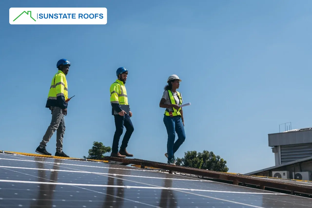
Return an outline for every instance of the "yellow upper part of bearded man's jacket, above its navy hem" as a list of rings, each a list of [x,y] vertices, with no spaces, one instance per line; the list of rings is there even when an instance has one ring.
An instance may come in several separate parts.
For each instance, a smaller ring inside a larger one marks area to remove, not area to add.
[[[110,86],[110,103],[119,103],[119,105],[129,105],[128,96],[124,82],[116,80]]]

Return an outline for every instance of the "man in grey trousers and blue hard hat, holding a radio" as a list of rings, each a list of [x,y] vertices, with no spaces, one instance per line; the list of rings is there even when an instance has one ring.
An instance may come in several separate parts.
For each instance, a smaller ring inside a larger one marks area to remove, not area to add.
[[[69,157],[63,152],[63,138],[65,133],[64,116],[67,115],[67,105],[70,100],[68,99],[68,87],[66,81],[66,75],[70,66],[71,62],[66,59],[60,59],[56,64],[58,72],[52,78],[46,101],[46,108],[51,110],[52,120],[40,142],[40,145],[36,149],[36,152],[42,155],[51,155],[51,153],[46,151],[46,143],[50,141],[53,133],[56,131],[55,156]]]

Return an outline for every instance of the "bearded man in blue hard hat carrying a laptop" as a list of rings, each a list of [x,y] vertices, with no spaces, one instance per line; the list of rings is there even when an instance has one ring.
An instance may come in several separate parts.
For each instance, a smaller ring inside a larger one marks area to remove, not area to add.
[[[132,125],[130,117],[132,116],[132,112],[129,109],[129,114],[125,112],[122,107],[128,105],[128,96],[125,87],[125,83],[128,76],[128,70],[124,67],[119,67],[116,71],[117,80],[110,86],[110,103],[112,105],[112,115],[115,118],[115,126],[116,131],[113,139],[112,153],[110,156],[112,157],[133,157],[132,154],[129,154],[126,150],[128,146],[129,139],[134,131],[134,127]],[[126,108],[125,107],[125,108]],[[119,139],[122,135],[122,132],[126,127],[126,132],[124,134],[124,138],[122,140],[120,150],[118,151]]]

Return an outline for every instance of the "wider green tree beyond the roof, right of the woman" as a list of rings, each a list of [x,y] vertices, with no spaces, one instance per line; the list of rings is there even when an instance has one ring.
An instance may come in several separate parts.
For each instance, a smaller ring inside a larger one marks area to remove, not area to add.
[[[187,151],[184,152],[183,158],[177,158],[176,164],[178,166],[193,167],[199,169],[207,169],[210,171],[227,172],[229,169],[225,161],[220,156],[216,156],[212,151],[198,152]]]

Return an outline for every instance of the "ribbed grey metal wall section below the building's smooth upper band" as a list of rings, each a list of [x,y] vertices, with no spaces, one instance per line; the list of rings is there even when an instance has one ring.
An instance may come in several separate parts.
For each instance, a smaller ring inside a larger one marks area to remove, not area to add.
[[[281,163],[312,156],[312,143],[280,146]]]

